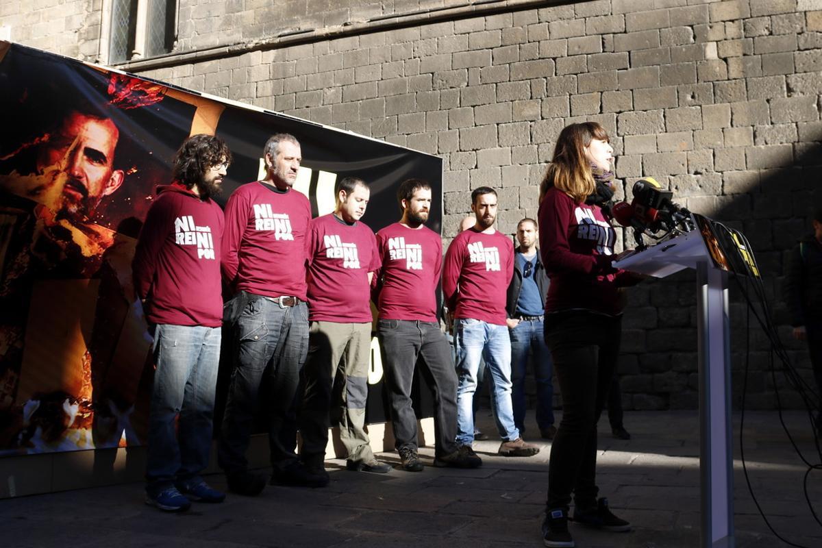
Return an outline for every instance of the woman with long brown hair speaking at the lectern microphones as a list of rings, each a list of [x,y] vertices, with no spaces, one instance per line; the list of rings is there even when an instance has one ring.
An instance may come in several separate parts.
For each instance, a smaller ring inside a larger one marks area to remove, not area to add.
[[[539,244],[551,278],[545,302],[545,342],[562,394],[562,421],[548,467],[545,546],[574,545],[568,521],[603,531],[630,523],[598,498],[597,421],[617,366],[624,306],[620,288],[637,283],[615,269],[613,148],[595,122],[567,126],[556,140],[539,188]],[[574,513],[569,516],[571,495]]]

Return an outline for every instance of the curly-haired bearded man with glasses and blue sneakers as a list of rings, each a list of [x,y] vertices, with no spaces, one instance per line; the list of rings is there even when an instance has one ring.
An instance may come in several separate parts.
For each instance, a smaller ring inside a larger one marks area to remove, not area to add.
[[[203,481],[211,450],[223,298],[219,193],[231,152],[215,136],[189,137],[173,183],[145,216],[132,270],[154,336],[145,504],[169,512],[225,498]],[[179,417],[179,420],[178,420]]]

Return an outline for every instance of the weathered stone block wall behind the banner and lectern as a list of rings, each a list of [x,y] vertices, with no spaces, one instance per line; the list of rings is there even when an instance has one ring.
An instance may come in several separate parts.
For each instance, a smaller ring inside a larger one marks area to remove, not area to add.
[[[822,0],[270,3],[182,2],[178,57],[127,70],[441,156],[446,237],[481,185],[499,191],[499,227],[513,233],[536,214],[561,128],[596,120],[629,193],[653,176],[750,237],[775,317],[787,320],[783,259],[822,198]],[[192,58],[205,47],[218,49]],[[630,291],[627,408],[696,407],[693,280]],[[773,407],[769,346],[753,326],[747,351],[736,288],[732,298],[734,397],[750,357],[749,403]],[[810,380],[804,348],[781,333]],[[782,401],[797,404],[795,394]]]

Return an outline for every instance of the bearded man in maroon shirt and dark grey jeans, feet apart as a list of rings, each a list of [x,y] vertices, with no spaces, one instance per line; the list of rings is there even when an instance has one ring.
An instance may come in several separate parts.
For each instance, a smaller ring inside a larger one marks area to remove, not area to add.
[[[417,417],[411,406],[413,371],[423,357],[434,389],[434,466],[474,468],[483,461],[455,443],[457,376],[446,335],[436,320],[436,285],[442,270],[442,239],[425,227],[431,185],[408,179],[397,189],[403,218],[376,233],[382,267],[375,299],[377,334],[385,357],[395,447],[408,472],[422,472],[417,454]]]

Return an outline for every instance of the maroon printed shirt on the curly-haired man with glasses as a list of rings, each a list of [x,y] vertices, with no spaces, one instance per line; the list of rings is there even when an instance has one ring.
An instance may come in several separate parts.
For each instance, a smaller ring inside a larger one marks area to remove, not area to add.
[[[223,210],[181,185],[158,187],[137,241],[134,287],[152,324],[223,323]]]

